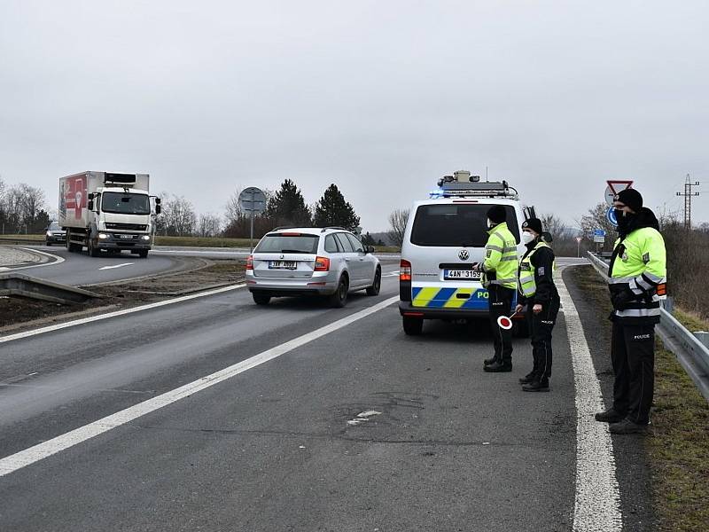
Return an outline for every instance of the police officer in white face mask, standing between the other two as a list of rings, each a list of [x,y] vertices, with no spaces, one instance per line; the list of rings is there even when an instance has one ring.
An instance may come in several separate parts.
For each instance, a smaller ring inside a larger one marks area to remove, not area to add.
[[[518,305],[526,306],[526,318],[532,338],[532,371],[519,379],[526,392],[548,392],[551,377],[551,332],[557,323],[561,301],[554,284],[554,252],[543,233],[541,220],[529,218],[522,223],[522,241],[526,253],[519,262]]]

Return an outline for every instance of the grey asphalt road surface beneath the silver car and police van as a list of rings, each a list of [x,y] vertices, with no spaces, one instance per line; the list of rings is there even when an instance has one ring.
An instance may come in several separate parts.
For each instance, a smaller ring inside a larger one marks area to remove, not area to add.
[[[519,389],[528,340],[516,341],[514,372],[484,373],[486,323],[426,322],[407,337],[395,304],[283,348],[396,296],[395,268],[378,297],[345,309],[257,307],[238,289],[0,343],[0,457],[283,351],[0,477],[2,528],[570,529],[563,315],[549,394]],[[364,412],[377,413],[356,421]]]

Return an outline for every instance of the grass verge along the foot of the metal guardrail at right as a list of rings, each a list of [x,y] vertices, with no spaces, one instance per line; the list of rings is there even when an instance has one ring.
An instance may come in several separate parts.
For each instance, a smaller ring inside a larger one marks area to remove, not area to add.
[[[610,305],[603,279],[591,267],[574,270],[579,288],[605,315]],[[655,351],[651,416],[651,433],[643,439],[643,447],[651,464],[657,529],[705,532],[709,523],[709,404],[660,340]]]

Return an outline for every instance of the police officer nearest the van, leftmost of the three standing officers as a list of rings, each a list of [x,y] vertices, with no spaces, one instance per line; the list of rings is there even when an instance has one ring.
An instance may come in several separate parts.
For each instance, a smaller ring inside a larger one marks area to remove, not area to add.
[[[487,288],[495,355],[485,360],[486,372],[512,371],[512,332],[497,325],[497,318],[509,315],[517,289],[517,240],[507,227],[507,211],[502,205],[487,210],[487,245],[485,260],[473,264],[482,274],[482,285]]]

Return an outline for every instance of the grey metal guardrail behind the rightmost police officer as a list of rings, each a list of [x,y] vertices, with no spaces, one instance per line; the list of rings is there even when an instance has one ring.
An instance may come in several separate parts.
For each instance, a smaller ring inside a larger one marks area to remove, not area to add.
[[[590,251],[588,261],[604,279],[608,279],[608,264]],[[666,309],[660,309],[658,334],[665,347],[674,353],[699,391],[709,401],[709,348]]]

